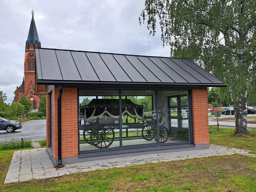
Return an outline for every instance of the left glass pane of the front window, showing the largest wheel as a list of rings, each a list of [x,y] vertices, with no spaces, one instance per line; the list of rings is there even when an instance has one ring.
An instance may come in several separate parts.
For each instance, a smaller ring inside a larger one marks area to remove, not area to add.
[[[79,91],[78,122],[80,151],[119,147],[118,91]]]

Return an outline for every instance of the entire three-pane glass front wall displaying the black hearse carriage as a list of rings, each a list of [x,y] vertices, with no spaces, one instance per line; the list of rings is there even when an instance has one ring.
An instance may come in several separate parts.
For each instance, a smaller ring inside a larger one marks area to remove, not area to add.
[[[190,141],[188,100],[188,91],[79,90],[79,153]]]

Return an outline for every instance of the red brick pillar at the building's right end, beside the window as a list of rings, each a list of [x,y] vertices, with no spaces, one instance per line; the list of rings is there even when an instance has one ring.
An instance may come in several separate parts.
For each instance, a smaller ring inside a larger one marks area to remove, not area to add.
[[[192,90],[194,144],[209,144],[207,89]]]

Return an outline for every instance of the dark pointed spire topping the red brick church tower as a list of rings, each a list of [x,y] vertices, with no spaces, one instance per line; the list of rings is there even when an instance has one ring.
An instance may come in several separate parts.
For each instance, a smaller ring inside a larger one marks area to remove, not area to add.
[[[31,19],[30,28],[29,28],[28,39],[26,41],[26,50],[35,49],[36,47],[39,47],[39,48],[41,47],[41,42],[38,37],[35,20],[34,20],[34,11],[32,10],[31,13],[32,13],[32,19]]]

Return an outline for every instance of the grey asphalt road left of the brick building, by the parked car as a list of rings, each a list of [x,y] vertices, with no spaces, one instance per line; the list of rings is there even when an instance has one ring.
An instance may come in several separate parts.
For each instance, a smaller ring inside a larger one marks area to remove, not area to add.
[[[13,133],[0,131],[0,143],[8,143],[10,140],[30,139],[39,141],[46,139],[46,119],[30,120],[22,123],[23,127]]]

